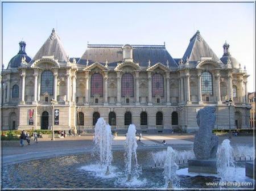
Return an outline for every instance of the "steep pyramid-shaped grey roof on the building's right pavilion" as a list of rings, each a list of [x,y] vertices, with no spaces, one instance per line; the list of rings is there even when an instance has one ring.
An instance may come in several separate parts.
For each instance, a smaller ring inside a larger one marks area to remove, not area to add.
[[[211,57],[212,60],[221,62],[217,55],[200,35],[200,32],[197,31],[195,35],[190,39],[188,48],[185,51],[182,60],[185,61],[188,58],[189,63],[197,64],[197,61],[201,61],[201,57]]]

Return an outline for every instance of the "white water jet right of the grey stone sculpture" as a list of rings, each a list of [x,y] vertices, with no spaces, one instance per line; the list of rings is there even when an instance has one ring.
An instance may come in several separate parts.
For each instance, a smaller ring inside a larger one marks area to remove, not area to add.
[[[229,139],[224,139],[217,150],[217,172],[221,181],[232,181],[236,175],[234,152]]]

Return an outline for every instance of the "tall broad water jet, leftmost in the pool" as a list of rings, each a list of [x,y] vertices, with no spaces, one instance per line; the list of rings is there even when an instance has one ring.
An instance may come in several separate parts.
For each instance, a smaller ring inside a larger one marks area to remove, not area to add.
[[[104,118],[98,118],[95,125],[94,145],[100,155],[100,164],[106,168],[106,175],[109,175],[109,166],[111,165],[112,156],[112,132],[110,125],[106,124]]]

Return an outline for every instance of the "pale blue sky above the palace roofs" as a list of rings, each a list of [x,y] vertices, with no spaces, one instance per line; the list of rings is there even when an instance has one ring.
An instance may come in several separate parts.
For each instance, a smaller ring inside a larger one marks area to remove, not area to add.
[[[225,40],[255,91],[254,3],[10,3],[2,4],[2,61],[7,67],[26,41],[35,56],[55,28],[69,57],[89,44],[163,45],[181,58],[197,30],[218,57]]]

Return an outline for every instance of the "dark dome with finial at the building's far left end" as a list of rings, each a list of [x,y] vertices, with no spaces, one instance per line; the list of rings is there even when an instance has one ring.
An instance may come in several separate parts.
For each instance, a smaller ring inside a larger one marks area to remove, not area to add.
[[[19,67],[20,63],[22,62],[22,57],[24,57],[24,56],[26,58],[27,63],[31,61],[31,58],[29,56],[27,56],[27,54],[25,52],[25,47],[26,47],[26,43],[24,41],[20,41],[19,42],[19,52],[18,52],[18,54],[16,54],[16,56],[11,58],[7,69],[10,69],[13,67]]]

